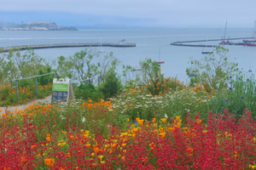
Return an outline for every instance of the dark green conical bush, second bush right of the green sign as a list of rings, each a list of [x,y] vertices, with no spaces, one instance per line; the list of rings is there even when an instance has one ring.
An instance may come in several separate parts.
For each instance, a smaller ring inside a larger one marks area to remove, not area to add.
[[[121,81],[113,68],[108,72],[105,82],[99,86],[99,90],[104,94],[105,99],[116,97],[121,88]]]

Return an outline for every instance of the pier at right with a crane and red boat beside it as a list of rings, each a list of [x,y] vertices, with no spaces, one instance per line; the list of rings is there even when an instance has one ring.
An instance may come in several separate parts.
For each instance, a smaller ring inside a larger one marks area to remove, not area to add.
[[[226,38],[226,39],[209,39],[209,40],[192,40],[192,41],[182,41],[182,42],[171,42],[170,45],[176,46],[187,46],[187,47],[208,47],[208,48],[215,48],[219,47],[220,45],[203,45],[203,44],[183,44],[189,42],[216,42],[216,41],[223,41],[223,40],[240,40],[240,39],[252,39],[254,37],[235,37],[235,38]],[[229,45],[229,44],[226,44]],[[230,42],[230,45],[243,45],[241,42]]]

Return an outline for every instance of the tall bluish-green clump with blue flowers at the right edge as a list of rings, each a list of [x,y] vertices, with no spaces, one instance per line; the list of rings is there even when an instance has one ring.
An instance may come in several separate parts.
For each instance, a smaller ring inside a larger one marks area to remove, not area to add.
[[[212,98],[210,110],[213,112],[224,111],[228,108],[236,118],[241,118],[241,113],[247,109],[256,118],[256,82],[253,75],[237,74],[229,78],[229,87],[224,88]]]

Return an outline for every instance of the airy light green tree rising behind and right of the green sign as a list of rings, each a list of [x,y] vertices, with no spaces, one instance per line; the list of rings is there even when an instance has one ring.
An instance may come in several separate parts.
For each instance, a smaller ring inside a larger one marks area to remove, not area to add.
[[[101,59],[95,50],[84,49],[68,58],[58,57],[57,72],[60,77],[69,77],[73,80],[85,80],[99,76],[104,81],[110,68],[119,65],[119,62],[113,57],[113,53],[105,55]]]

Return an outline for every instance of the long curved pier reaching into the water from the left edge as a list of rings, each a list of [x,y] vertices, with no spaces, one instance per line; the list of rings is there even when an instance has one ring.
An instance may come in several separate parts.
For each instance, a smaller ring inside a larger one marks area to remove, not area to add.
[[[80,47],[115,47],[115,48],[132,48],[136,47],[136,43],[56,43],[56,44],[38,44],[38,45],[21,45],[13,46],[8,48],[0,49],[0,53],[9,52],[11,49],[22,49],[26,50],[27,48],[32,49],[42,49],[42,48],[80,48]]]

